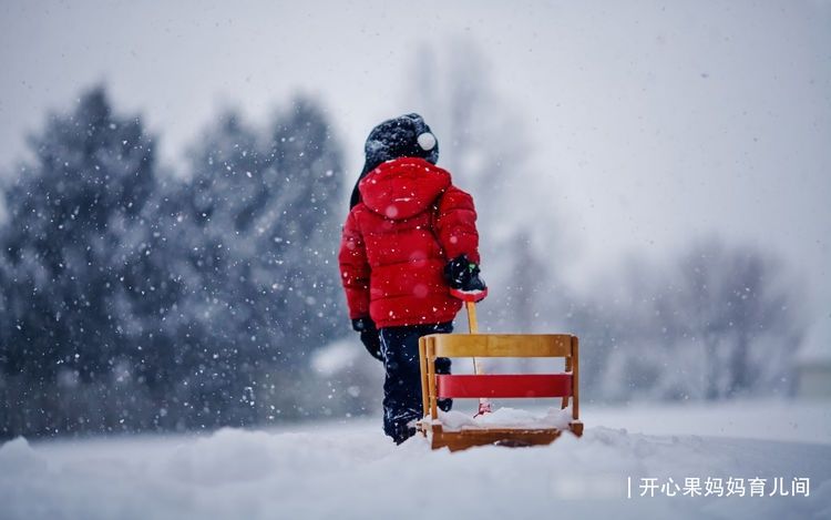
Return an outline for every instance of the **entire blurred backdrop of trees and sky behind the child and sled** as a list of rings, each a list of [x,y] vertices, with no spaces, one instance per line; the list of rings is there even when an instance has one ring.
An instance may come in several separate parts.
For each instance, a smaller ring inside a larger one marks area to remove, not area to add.
[[[336,252],[407,112],[588,406],[829,399],[831,4],[447,3],[0,2],[0,437],[379,414]]]

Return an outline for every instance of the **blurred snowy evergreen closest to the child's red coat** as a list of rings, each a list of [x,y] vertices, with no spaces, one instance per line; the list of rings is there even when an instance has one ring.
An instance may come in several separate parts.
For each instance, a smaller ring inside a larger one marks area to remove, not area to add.
[[[291,316],[285,325],[305,355],[342,336],[342,296],[335,262],[345,198],[342,154],[331,124],[310,100],[298,98],[274,124],[273,165],[279,196],[273,254],[288,269],[279,285]]]

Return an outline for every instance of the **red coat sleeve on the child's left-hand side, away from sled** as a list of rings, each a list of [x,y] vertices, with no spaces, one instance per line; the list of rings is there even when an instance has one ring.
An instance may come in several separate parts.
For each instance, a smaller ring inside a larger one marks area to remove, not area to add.
[[[355,215],[349,213],[343,225],[340,241],[340,282],[346,292],[349,318],[357,319],[369,316],[369,262],[367,247]]]

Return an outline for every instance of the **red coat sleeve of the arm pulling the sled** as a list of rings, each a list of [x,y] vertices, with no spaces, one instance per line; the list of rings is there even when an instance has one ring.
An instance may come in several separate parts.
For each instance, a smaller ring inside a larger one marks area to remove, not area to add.
[[[479,232],[473,197],[450,186],[439,202],[435,233],[448,259],[468,255],[479,264]]]

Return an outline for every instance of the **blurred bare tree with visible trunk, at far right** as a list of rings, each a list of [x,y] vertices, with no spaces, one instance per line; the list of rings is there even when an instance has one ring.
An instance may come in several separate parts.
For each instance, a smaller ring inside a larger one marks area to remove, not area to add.
[[[793,287],[781,262],[710,237],[694,243],[657,300],[664,327],[705,359],[704,397],[783,391],[800,343]]]

